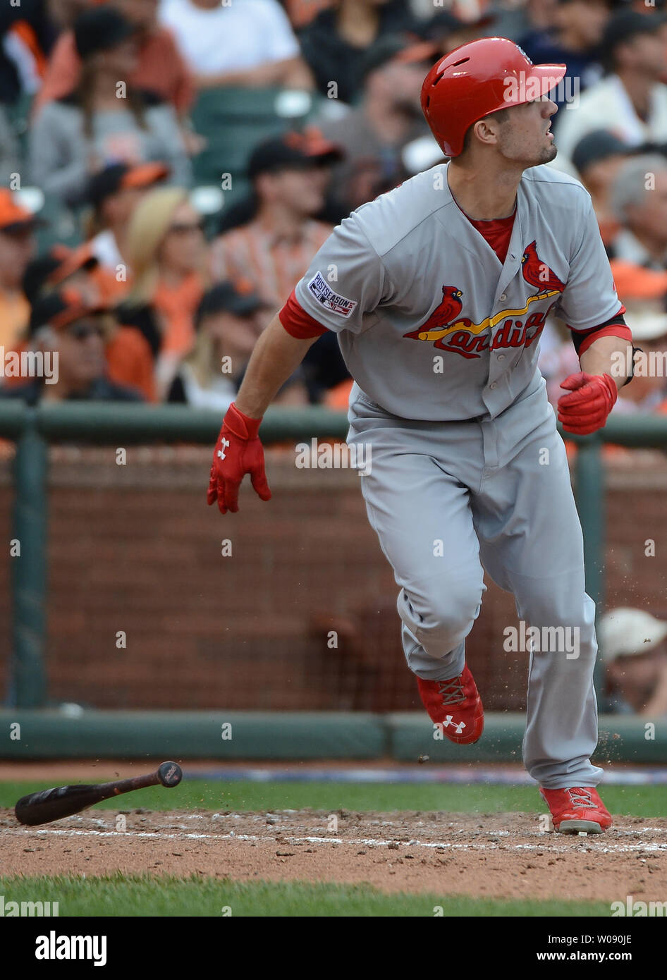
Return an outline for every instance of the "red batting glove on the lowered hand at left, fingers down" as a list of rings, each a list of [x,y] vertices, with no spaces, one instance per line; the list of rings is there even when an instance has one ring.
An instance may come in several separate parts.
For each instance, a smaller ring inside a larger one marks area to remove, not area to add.
[[[217,501],[220,514],[238,511],[239,487],[246,473],[250,473],[258,496],[262,500],[271,499],[264,472],[264,451],[258,436],[261,421],[262,418],[244,416],[233,402],[222,419],[206,495],[209,505]]]

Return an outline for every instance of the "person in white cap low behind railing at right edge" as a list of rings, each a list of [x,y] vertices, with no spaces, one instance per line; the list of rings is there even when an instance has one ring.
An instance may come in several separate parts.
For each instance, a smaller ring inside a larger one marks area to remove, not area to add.
[[[667,622],[621,606],[597,629],[612,711],[646,718],[667,715]]]

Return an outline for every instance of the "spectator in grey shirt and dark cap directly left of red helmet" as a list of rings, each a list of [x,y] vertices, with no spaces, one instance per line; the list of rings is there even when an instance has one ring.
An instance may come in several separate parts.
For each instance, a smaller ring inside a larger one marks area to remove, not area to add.
[[[333,172],[332,192],[348,214],[401,183],[409,175],[405,146],[430,137],[419,96],[432,55],[430,42],[405,47],[397,35],[383,37],[366,52],[357,108],[341,119],[321,120],[324,136],[345,150]]]

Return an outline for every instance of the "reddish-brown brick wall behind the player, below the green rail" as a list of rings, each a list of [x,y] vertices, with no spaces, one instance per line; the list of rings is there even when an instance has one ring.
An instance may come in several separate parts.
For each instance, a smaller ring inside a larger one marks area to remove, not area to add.
[[[204,502],[210,451],[51,451],[47,660],[53,702],[95,708],[409,710],[393,572],[367,524],[357,474],[296,470],[270,451],[273,500]],[[0,465],[0,533],[11,488]],[[667,462],[608,473],[608,605],[667,616]],[[231,542],[222,557],[221,542]],[[656,557],[644,556],[644,541]],[[8,552],[8,545],[6,545]],[[0,564],[0,691],[10,653],[9,562]],[[526,657],[502,650],[513,600],[493,583],[468,641],[490,709],[524,706]],[[338,647],[330,649],[335,630]],[[126,634],[118,649],[117,633]]]

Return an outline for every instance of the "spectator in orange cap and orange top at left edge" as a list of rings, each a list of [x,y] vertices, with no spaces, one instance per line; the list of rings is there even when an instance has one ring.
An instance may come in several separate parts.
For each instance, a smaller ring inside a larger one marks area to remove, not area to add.
[[[21,343],[29,319],[22,280],[34,255],[37,223],[11,191],[0,188],[0,346],[8,351]]]

